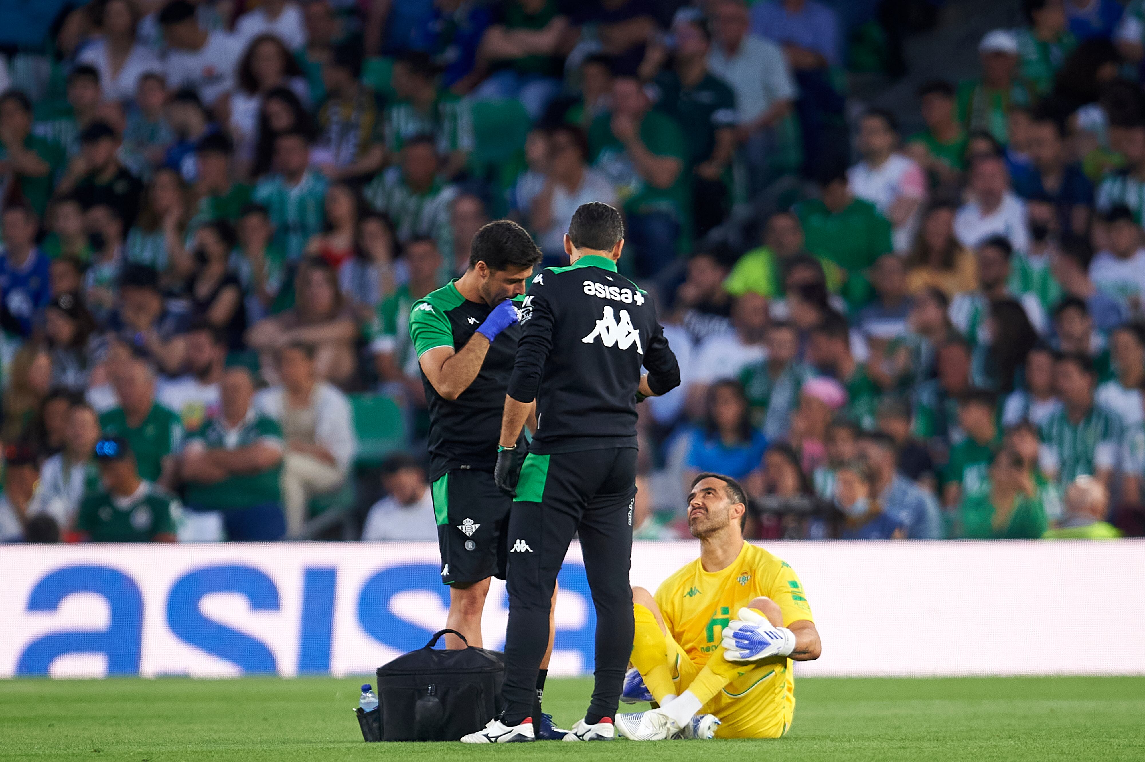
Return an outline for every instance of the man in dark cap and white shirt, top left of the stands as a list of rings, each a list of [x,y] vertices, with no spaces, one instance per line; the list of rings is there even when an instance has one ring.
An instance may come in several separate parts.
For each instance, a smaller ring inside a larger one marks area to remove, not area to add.
[[[243,53],[239,40],[222,31],[204,32],[187,0],[168,2],[159,11],[159,24],[169,46],[167,87],[190,88],[208,108],[235,89],[235,68]]]

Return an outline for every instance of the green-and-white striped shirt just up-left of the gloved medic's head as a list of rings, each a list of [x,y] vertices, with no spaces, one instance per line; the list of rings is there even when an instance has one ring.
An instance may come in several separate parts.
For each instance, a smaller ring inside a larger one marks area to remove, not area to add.
[[[428,236],[437,241],[437,251],[447,260],[453,253],[453,230],[450,225],[450,205],[457,189],[440,181],[424,193],[414,193],[402,178],[401,167],[389,167],[365,186],[365,200],[394,221],[397,238]]]

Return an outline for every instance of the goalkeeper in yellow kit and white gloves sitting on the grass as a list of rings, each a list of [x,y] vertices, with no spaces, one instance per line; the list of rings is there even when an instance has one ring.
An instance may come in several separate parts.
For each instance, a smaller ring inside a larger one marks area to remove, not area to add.
[[[795,570],[743,541],[747,503],[734,479],[697,476],[688,527],[700,558],[655,598],[632,589],[634,669],[622,700],[660,706],[617,715],[625,738],[777,738],[791,727],[791,661],[819,658],[819,633]]]

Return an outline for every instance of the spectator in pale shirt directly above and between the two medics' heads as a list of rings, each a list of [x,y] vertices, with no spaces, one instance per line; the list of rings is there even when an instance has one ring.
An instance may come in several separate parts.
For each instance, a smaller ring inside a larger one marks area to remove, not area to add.
[[[616,189],[587,160],[589,141],[581,128],[558,125],[548,132],[545,183],[528,208],[529,227],[545,256],[560,259],[564,253],[564,231],[578,206],[590,201],[619,206]]]

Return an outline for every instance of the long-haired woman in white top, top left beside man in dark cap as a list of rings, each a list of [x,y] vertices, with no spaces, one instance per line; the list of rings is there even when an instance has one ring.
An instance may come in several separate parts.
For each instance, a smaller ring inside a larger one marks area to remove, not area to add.
[[[104,0],[93,3],[94,21],[103,33],[94,38],[76,62],[94,66],[105,101],[124,103],[135,97],[140,78],[163,73],[158,56],[135,39],[139,9],[128,0]]]

